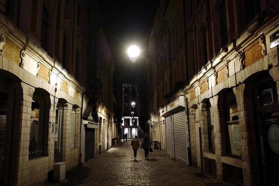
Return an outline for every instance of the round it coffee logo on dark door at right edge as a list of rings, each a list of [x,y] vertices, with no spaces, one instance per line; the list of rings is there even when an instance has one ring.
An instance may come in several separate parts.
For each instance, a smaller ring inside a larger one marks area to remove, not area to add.
[[[276,124],[271,125],[267,136],[270,148],[273,152],[279,154],[279,126]]]

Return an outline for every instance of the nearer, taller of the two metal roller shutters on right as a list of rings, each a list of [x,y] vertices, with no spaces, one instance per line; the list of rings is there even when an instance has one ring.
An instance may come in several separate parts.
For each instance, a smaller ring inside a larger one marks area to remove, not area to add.
[[[174,158],[188,164],[185,110],[174,114]]]

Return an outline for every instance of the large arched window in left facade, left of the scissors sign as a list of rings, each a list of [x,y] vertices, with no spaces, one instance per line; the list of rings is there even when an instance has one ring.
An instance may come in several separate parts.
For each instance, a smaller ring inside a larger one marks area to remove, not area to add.
[[[44,94],[35,90],[31,103],[30,136],[29,136],[29,159],[42,156],[44,134]]]

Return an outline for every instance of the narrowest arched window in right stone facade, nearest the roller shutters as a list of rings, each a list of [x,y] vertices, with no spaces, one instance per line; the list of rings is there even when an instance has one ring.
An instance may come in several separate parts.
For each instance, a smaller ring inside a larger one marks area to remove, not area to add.
[[[214,125],[213,121],[213,110],[208,100],[206,105],[206,115],[207,115],[207,130],[208,130],[208,150],[215,153],[215,140],[214,140]]]

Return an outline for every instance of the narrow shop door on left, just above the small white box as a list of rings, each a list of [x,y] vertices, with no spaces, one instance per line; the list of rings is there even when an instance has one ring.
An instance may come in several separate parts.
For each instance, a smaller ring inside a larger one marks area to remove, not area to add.
[[[62,162],[62,137],[63,137],[64,110],[56,109],[55,135],[54,135],[54,163]]]

